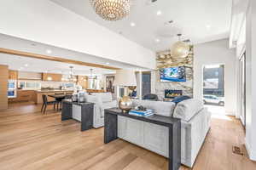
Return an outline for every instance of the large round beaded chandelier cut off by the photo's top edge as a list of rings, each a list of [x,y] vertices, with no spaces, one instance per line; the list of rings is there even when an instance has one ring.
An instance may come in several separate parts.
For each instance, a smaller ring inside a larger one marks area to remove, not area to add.
[[[121,20],[130,13],[130,0],[90,0],[96,14],[104,20]]]

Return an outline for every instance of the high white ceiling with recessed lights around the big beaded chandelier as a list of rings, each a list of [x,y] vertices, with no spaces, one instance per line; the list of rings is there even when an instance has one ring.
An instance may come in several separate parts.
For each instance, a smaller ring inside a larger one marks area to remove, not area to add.
[[[226,38],[230,33],[232,0],[131,0],[131,14],[119,21],[102,20],[89,0],[51,1],[154,51],[170,48],[177,33],[194,44]],[[156,14],[159,10],[161,15]],[[169,20],[173,23],[168,24]]]

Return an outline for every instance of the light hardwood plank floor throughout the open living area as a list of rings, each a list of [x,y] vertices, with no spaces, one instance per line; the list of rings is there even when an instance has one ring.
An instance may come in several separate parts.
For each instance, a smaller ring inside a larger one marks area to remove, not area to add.
[[[9,110],[0,111],[0,169],[167,169],[166,158],[134,144],[120,139],[103,144],[103,128],[83,133],[79,129],[78,122],[61,122],[60,113],[41,114],[40,105],[10,105]],[[193,169],[256,169],[247,155],[232,153],[232,145],[245,151],[243,144],[240,122],[229,116],[212,118],[212,129]]]

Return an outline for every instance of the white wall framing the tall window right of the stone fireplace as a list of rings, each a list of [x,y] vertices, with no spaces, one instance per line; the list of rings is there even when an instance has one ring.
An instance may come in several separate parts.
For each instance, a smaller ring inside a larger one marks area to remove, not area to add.
[[[236,51],[229,49],[229,40],[218,40],[195,45],[194,97],[203,96],[203,66],[224,64],[225,112],[236,113]]]

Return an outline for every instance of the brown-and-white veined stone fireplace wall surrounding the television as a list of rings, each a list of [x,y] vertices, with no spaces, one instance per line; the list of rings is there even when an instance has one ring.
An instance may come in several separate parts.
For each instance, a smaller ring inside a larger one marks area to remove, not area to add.
[[[183,90],[183,95],[193,97],[193,46],[190,47],[189,55],[185,58],[174,58],[170,50],[160,51],[156,54],[157,70],[152,72],[152,91],[158,95],[159,99],[165,98],[165,89]],[[175,66],[185,66],[186,82],[160,82],[160,68]]]

